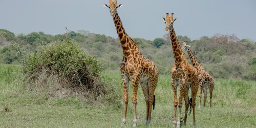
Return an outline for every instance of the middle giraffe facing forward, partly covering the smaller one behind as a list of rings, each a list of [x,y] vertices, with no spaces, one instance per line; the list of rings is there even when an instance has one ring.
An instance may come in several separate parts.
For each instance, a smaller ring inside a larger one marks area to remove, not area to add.
[[[173,19],[174,13],[169,16],[169,13],[166,13],[165,18],[163,18],[166,28],[165,31],[169,30],[170,40],[172,41],[172,48],[174,52],[174,65],[171,71],[172,74],[172,87],[174,92],[174,121],[173,124],[177,127],[180,127],[180,114],[182,108],[182,98],[185,100],[185,115],[184,115],[184,124],[186,125],[187,112],[189,107],[189,98],[188,90],[191,88],[191,105],[193,108],[193,117],[194,125],[196,125],[196,116],[195,116],[195,106],[196,106],[196,96],[198,91],[198,73],[197,69],[191,66],[184,52],[181,50],[179,41],[175,34],[173,23],[176,22],[176,18]],[[177,87],[180,86],[180,97],[179,101],[177,100]],[[178,120],[176,121],[176,111],[178,105]]]

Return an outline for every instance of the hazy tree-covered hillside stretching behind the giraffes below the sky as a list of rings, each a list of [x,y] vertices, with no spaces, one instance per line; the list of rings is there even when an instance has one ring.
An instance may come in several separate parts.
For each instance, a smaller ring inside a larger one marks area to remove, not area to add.
[[[118,38],[90,33],[71,31],[73,38],[84,51],[99,58],[106,70],[119,70],[122,49]],[[33,54],[40,46],[63,40],[65,34],[49,35],[44,32],[15,35],[0,29],[0,63],[20,64],[23,58]],[[161,74],[169,74],[174,63],[174,55],[169,34],[163,38],[146,40],[133,38],[144,56],[152,59]],[[202,36],[190,40],[187,36],[178,36],[180,44],[188,41],[195,56],[204,68],[215,78],[236,78],[256,80],[256,42],[239,39],[235,35]],[[185,51],[188,61],[190,59]]]

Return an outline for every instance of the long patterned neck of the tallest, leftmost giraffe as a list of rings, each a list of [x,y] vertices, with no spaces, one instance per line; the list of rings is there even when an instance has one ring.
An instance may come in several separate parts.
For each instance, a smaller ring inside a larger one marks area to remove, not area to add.
[[[126,34],[123,25],[122,25],[122,21],[118,15],[118,13],[116,12],[115,17],[113,17],[114,20],[114,24],[116,26],[116,31],[121,43],[121,47],[123,49],[123,55],[125,57],[128,57],[131,55],[131,48],[135,49],[135,47],[137,46],[134,41],[132,40],[132,38]],[[135,47],[134,47],[135,46]]]

